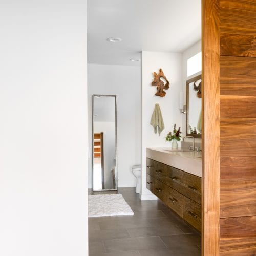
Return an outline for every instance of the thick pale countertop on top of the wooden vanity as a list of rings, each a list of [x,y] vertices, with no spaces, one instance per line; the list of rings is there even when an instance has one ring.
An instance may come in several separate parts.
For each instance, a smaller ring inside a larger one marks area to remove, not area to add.
[[[202,152],[172,150],[169,147],[146,149],[146,157],[202,177]]]

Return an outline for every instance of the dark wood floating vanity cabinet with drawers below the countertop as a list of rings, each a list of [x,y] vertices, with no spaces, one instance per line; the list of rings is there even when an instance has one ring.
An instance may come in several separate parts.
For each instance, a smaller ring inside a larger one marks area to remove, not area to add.
[[[147,189],[201,232],[201,178],[150,158]]]

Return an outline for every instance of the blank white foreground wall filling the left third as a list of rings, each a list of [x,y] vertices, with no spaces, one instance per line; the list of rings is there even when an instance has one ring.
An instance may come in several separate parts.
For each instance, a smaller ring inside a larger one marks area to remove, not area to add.
[[[86,0],[5,3],[0,255],[87,255]]]

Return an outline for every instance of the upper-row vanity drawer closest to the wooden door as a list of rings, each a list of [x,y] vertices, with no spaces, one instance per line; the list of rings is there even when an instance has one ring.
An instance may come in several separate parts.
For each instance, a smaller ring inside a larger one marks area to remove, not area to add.
[[[201,204],[202,201],[201,181],[200,177],[183,172],[183,184],[185,186],[183,194],[199,204]]]

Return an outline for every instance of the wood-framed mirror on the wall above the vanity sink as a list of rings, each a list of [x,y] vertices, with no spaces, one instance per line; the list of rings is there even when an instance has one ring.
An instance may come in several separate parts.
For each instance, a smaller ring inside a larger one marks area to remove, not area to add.
[[[186,135],[201,138],[202,135],[202,94],[201,75],[186,81]]]

